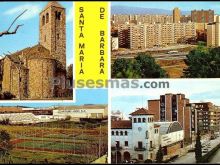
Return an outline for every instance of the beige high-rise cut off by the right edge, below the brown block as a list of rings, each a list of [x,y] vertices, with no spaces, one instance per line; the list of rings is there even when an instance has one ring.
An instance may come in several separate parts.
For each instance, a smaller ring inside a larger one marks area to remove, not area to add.
[[[207,46],[220,46],[220,16],[217,16],[216,22],[207,25]]]

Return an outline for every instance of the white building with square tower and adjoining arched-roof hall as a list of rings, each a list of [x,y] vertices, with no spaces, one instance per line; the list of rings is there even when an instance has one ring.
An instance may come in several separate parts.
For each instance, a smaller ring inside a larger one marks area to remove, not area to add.
[[[136,159],[155,160],[159,146],[164,159],[183,147],[184,131],[178,122],[154,122],[154,114],[141,108],[130,114],[131,120],[112,121],[111,159],[113,163]]]

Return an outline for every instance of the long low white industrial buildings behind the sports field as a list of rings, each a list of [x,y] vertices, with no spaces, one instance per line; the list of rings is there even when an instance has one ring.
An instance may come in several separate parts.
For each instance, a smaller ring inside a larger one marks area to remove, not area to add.
[[[0,107],[0,122],[31,124],[58,120],[105,120],[108,118],[107,105],[82,105],[49,108]]]

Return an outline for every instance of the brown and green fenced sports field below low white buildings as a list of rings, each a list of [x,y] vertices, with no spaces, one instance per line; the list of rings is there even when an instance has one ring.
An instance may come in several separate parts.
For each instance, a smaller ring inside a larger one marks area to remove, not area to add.
[[[13,163],[91,163],[108,150],[106,123],[0,125],[0,130],[11,135]]]

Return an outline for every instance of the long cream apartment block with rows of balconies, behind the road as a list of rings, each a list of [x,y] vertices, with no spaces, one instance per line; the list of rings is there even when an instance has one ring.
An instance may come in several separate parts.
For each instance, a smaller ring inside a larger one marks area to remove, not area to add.
[[[119,48],[144,49],[172,45],[196,37],[195,23],[124,24],[118,26]]]

